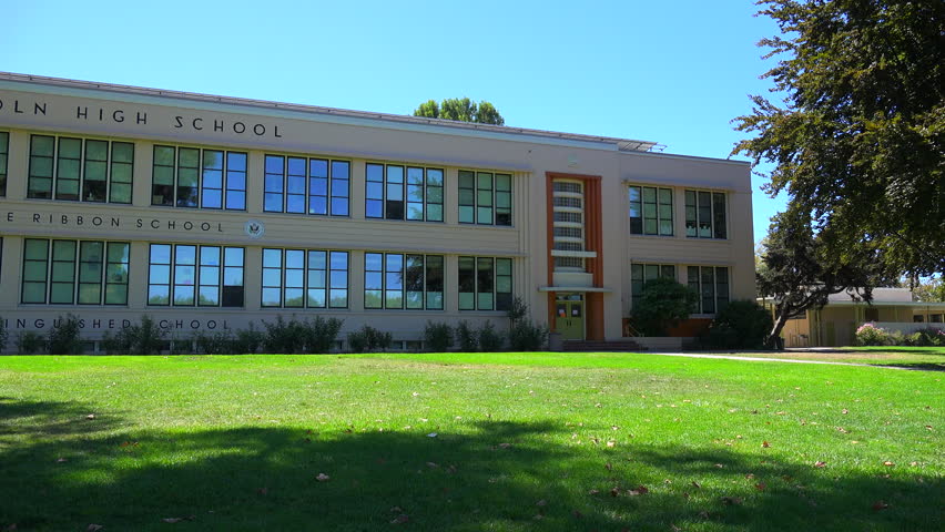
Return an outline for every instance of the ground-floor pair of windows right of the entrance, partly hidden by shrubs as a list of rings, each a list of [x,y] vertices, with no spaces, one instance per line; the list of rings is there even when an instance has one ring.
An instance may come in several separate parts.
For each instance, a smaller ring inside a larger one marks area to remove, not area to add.
[[[633,308],[640,304],[643,288],[653,279],[677,280],[673,264],[631,264],[630,297]],[[688,266],[687,284],[698,294],[694,314],[715,314],[729,304],[729,268],[720,266]]]

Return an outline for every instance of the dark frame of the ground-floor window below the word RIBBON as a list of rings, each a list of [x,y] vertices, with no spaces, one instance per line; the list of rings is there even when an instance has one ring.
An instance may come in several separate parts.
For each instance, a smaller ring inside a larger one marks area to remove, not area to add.
[[[37,259],[37,258],[28,258],[27,249],[29,247],[29,243],[31,242],[42,242],[45,243],[45,258]],[[72,258],[71,259],[57,259],[55,248],[57,243],[65,243],[72,245]],[[100,244],[101,245],[101,255],[99,260],[83,260],[83,249],[87,244]],[[124,260],[113,262],[110,260],[109,252],[112,246],[124,246]],[[99,239],[89,239],[89,238],[23,238],[23,256],[21,259],[21,275],[20,275],[20,304],[21,305],[68,305],[68,306],[128,306],[128,288],[130,286],[129,278],[131,277],[131,265],[130,265],[130,255],[131,255],[131,242],[125,241],[99,241]],[[43,263],[43,267],[40,269],[34,264],[33,267],[29,267],[30,263]],[[59,264],[69,264],[70,266],[67,268],[62,267],[61,269],[65,270],[70,274],[70,280],[55,280],[55,272],[57,263]],[[118,264],[124,266],[124,282],[112,282],[109,280],[109,270],[110,266]],[[98,282],[83,280],[83,278],[88,278],[82,273],[83,265],[98,265]],[[39,272],[43,272],[42,277],[43,280],[40,282],[39,276],[37,275]],[[32,279],[29,272],[32,272],[33,276],[37,279]],[[28,284],[39,284],[43,285],[43,300],[30,300],[26,299],[27,295],[27,285]],[[71,285],[71,298],[69,301],[59,300],[53,301],[53,287],[54,285]],[[82,303],[82,286],[83,285],[98,285],[98,297],[96,303]],[[110,303],[109,301],[109,287],[110,286],[124,286],[124,300],[121,303]]]

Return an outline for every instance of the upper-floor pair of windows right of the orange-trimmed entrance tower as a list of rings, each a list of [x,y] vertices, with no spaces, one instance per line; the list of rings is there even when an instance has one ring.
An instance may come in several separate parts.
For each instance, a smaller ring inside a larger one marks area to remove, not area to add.
[[[725,193],[683,191],[685,236],[728,238]],[[673,236],[673,194],[671,188],[630,186],[630,234]]]

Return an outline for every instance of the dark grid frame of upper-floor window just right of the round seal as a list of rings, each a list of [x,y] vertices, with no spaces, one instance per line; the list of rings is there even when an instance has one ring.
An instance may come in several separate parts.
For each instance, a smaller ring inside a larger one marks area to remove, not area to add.
[[[271,172],[268,162],[270,158],[282,160],[282,171],[280,173]],[[292,162],[303,161],[304,172],[292,173]],[[325,175],[314,175],[313,163],[325,163]],[[346,165],[346,176],[336,175],[339,166]],[[277,192],[268,191],[268,178],[281,175],[281,190]],[[264,153],[263,154],[263,212],[266,214],[302,214],[308,216],[337,216],[350,217],[350,183],[352,183],[352,161],[345,158],[334,158],[324,156],[307,156],[286,153]],[[293,178],[301,178],[303,182],[302,192],[289,192],[289,182]],[[316,194],[313,192],[313,181],[325,180],[325,194]],[[267,204],[267,196],[281,196],[280,208],[276,209]],[[299,196],[302,198],[301,211],[289,211],[289,196]],[[316,197],[325,198],[325,212],[313,212],[312,201]],[[344,202],[344,208],[341,207]],[[343,212],[341,212],[343,211]]]

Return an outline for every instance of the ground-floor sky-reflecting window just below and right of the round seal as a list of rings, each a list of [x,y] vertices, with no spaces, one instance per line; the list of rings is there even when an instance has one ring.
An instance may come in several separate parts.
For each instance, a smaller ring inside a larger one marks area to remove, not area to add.
[[[347,308],[348,252],[263,249],[262,305]]]

